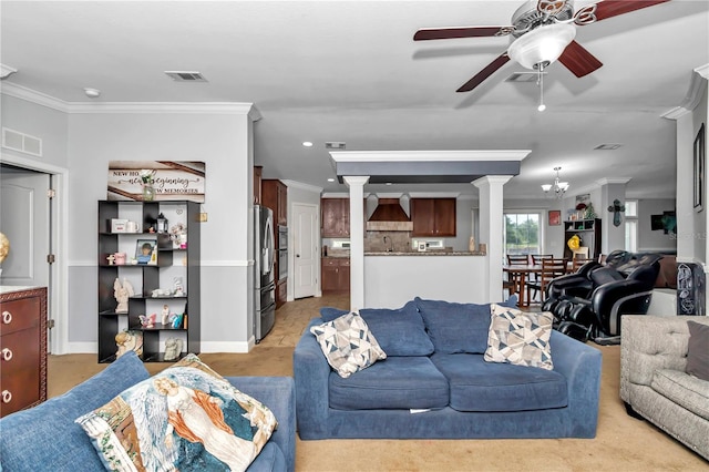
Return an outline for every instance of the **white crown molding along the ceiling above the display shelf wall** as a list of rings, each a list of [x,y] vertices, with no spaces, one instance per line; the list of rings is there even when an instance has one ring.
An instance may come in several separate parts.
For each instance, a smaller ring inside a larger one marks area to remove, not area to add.
[[[0,93],[47,106],[63,113],[217,113],[248,115],[251,121],[261,119],[253,103],[238,102],[64,102],[41,92],[2,82]]]

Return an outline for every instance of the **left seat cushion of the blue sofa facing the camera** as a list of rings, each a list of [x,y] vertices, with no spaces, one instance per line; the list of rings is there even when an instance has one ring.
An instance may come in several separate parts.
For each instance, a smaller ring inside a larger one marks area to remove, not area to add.
[[[330,408],[338,410],[443,408],[448,380],[425,356],[390,357],[347,379],[328,379]]]

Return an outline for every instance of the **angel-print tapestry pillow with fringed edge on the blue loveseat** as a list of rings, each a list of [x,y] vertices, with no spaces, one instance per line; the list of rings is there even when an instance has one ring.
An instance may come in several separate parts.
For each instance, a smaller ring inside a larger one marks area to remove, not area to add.
[[[76,422],[110,470],[246,470],[277,425],[195,355]]]

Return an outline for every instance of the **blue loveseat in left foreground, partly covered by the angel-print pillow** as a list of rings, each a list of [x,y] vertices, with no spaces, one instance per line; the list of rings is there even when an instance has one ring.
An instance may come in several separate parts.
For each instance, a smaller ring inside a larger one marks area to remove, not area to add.
[[[150,377],[133,352],[61,397],[0,420],[0,471],[100,471],[96,450],[74,422],[126,388]],[[290,377],[227,377],[237,389],[268,406],[278,429],[248,468],[255,471],[294,471],[296,411]]]

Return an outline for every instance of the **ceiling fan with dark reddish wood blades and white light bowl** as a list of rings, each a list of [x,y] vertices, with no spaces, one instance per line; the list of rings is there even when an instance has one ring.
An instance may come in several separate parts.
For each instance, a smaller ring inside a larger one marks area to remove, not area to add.
[[[669,0],[604,0],[587,4],[574,12],[573,0],[528,0],[512,16],[507,27],[425,28],[417,31],[414,41],[453,38],[512,35],[507,51],[500,54],[456,92],[470,92],[513,59],[542,76],[544,68],[558,61],[582,78],[603,63],[583,45],[574,41],[575,25],[586,25],[607,18],[629,13]]]

